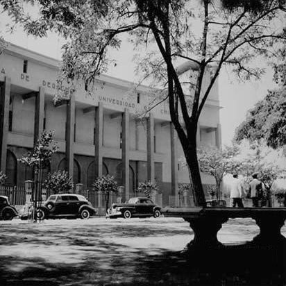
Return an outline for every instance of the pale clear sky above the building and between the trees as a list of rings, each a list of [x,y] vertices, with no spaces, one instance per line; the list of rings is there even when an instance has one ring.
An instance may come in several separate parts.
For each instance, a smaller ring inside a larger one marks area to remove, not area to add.
[[[49,33],[47,38],[37,38],[27,36],[21,28],[15,33],[5,33],[6,24],[10,19],[6,15],[1,15],[0,31],[5,40],[20,47],[31,49],[46,56],[60,60],[62,40],[58,35]],[[0,34],[1,35],[1,34]],[[108,75],[115,76],[127,81],[134,81],[133,48],[130,44],[124,43],[120,51],[113,51],[116,55],[117,65],[109,69]],[[257,62],[264,65],[264,62]],[[267,68],[266,74],[259,81],[239,83],[235,76],[228,74],[225,69],[219,76],[219,100],[221,105],[221,141],[223,145],[229,145],[235,134],[235,128],[245,119],[246,112],[253,108],[255,103],[262,99],[267,90],[271,90],[276,85],[272,81],[272,71]]]

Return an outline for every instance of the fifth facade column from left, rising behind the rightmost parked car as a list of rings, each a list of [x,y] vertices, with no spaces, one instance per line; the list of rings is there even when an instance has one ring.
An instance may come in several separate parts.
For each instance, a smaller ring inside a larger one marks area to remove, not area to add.
[[[122,113],[122,176],[125,187],[125,199],[129,199],[129,112]]]

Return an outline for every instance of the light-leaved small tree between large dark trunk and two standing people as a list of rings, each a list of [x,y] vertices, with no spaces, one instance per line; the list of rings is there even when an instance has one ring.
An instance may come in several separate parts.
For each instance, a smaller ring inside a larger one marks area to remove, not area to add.
[[[198,150],[199,167],[201,172],[214,177],[216,186],[210,192],[221,199],[221,183],[226,174],[240,171],[242,164],[235,160],[239,149],[237,146],[226,146],[223,150],[217,146],[203,146]]]

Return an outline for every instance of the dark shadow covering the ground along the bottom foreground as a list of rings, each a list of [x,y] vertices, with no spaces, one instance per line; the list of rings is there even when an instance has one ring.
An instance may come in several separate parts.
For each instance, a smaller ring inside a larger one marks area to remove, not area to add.
[[[2,257],[1,285],[285,285],[285,246],[158,249],[156,255],[137,251],[124,256],[115,249],[102,250],[106,254],[100,260],[89,255],[80,264]]]

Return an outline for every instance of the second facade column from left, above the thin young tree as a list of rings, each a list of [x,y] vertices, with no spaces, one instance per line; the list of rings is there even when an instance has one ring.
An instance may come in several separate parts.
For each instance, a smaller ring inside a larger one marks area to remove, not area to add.
[[[35,121],[34,121],[34,146],[43,131],[44,125],[44,87],[40,87],[35,95]]]

